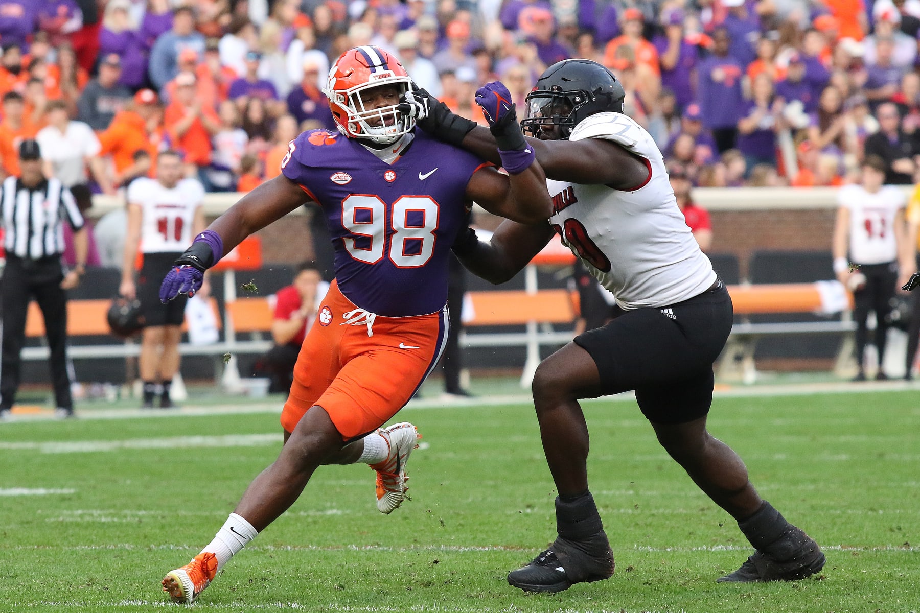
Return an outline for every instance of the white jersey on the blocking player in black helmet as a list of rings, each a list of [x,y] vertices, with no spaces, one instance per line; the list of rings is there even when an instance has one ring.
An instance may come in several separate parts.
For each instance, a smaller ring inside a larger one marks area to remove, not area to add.
[[[637,154],[649,178],[631,191],[547,180],[554,210],[549,222],[563,243],[627,311],[667,306],[709,289],[716,273],[677,207],[650,133],[622,113],[598,113],[582,120],[569,141],[591,138]]]

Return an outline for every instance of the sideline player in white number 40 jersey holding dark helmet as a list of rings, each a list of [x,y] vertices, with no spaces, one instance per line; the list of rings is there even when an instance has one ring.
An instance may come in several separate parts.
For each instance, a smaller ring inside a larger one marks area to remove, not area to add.
[[[178,372],[178,342],[188,297],[163,304],[160,280],[192,237],[204,230],[203,200],[204,187],[195,179],[182,178],[182,158],[172,151],[157,156],[155,179],[135,179],[128,187],[128,230],[119,293],[140,299],[144,314],[138,360],[144,408],[153,408],[156,396],[162,408],[173,405],[169,391]],[[134,260],[139,250],[144,263],[135,284]]]

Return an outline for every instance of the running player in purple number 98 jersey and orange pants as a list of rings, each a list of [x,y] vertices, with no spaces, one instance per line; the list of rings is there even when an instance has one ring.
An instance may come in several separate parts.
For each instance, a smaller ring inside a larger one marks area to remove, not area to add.
[[[282,411],[284,446],[249,485],[213,541],[163,588],[193,602],[230,558],[297,500],[322,464],[366,462],[377,471],[377,508],[405,495],[415,427],[379,429],[418,390],[447,337],[447,262],[466,229],[470,200],[491,212],[546,221],[546,176],[524,146],[511,109],[489,116],[509,176],[473,154],[415,130],[397,110],[411,85],[376,47],[344,52],[325,90],[339,134],[304,132],[282,175],[254,189],[201,233],[163,280],[160,298],[193,293],[204,270],[247,235],[306,202],[321,207],[335,247],[336,280],[305,338]]]

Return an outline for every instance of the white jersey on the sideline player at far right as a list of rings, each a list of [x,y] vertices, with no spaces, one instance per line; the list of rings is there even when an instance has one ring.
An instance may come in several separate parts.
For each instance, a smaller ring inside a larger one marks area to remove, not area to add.
[[[883,264],[898,257],[894,218],[905,206],[897,187],[883,186],[874,194],[858,185],[837,192],[841,207],[850,211],[850,259],[857,264]]]

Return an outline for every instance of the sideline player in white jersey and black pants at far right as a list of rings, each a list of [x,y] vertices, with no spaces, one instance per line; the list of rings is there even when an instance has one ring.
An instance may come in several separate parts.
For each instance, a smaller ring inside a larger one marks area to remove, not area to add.
[[[886,105],[887,106],[887,105]],[[896,112],[896,111],[895,111]],[[875,312],[875,346],[879,350],[876,379],[888,379],[881,364],[885,357],[888,323],[895,283],[900,287],[914,272],[914,257],[904,249],[904,197],[900,190],[884,185],[886,164],[867,155],[859,185],[837,192],[839,207],[834,224],[834,274],[853,291],[853,317],[857,322],[857,377],[866,380],[864,354],[868,344],[868,313]],[[900,278],[898,263],[902,262]],[[856,265],[854,270],[852,265]]]

